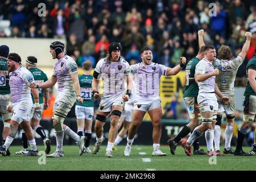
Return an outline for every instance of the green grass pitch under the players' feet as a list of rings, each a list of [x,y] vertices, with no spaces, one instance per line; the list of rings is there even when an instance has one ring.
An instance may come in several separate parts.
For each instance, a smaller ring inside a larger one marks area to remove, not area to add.
[[[11,156],[0,156],[0,170],[255,170],[256,156],[217,156],[217,164],[210,165],[209,156],[186,156],[183,148],[177,146],[176,155],[171,155],[168,146],[162,146],[167,156],[152,156],[152,146],[136,146],[131,150],[131,156],[123,156],[125,146],[118,146],[113,151],[114,158],[105,157],[106,146],[102,146],[98,154],[79,156],[77,146],[64,146],[64,158],[46,158],[46,164],[39,165],[39,156],[15,155],[21,146],[11,146]],[[38,147],[43,150],[43,146]],[[55,149],[55,146],[52,146]],[[92,147],[91,147],[92,148]],[[203,147],[206,150],[205,147]],[[221,147],[223,148],[223,147]],[[139,150],[140,149],[140,150]],[[249,151],[249,147],[244,147]],[[146,152],[146,155],[139,155]],[[142,162],[142,158],[150,158],[151,162]]]

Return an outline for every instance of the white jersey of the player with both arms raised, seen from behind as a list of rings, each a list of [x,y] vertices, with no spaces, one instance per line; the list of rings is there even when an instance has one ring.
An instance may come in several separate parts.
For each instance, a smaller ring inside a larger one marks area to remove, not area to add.
[[[237,56],[233,60],[214,60],[214,68],[218,68],[220,71],[216,76],[216,84],[222,93],[234,94],[234,81],[238,67],[242,63],[243,59],[241,56]]]

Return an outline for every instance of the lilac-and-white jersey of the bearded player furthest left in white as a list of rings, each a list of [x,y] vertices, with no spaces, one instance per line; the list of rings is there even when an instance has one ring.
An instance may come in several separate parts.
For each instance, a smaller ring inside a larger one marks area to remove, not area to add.
[[[32,102],[29,85],[34,82],[35,80],[32,73],[24,67],[10,72],[9,85],[11,101],[13,101],[14,104],[17,102]]]

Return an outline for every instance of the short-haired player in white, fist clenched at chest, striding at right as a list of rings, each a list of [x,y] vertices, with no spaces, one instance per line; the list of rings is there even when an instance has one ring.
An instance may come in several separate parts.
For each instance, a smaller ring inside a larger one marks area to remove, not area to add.
[[[185,150],[185,154],[191,156],[191,145],[199,138],[205,131],[209,130],[210,138],[212,142],[207,143],[207,155],[217,155],[212,151],[213,143],[213,129],[216,120],[218,103],[215,93],[227,104],[229,98],[224,96],[218,90],[215,84],[215,77],[218,75],[218,69],[214,69],[212,62],[216,59],[216,49],[213,46],[205,46],[204,59],[199,61],[196,65],[195,80],[199,85],[199,95],[197,96],[197,102],[199,104],[200,115],[202,123],[197,126],[193,133],[188,138],[187,142],[183,142],[182,146]],[[207,139],[207,138],[206,138]],[[211,141],[211,140],[210,140]]]

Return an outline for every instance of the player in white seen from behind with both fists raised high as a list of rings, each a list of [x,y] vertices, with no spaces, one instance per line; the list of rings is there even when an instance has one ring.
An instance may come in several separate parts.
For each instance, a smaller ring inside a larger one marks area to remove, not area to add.
[[[201,30],[204,31],[204,30]],[[246,41],[242,47],[242,51],[239,55],[232,59],[232,51],[229,46],[222,45],[218,49],[218,58],[213,61],[214,68],[219,70],[219,74],[216,76],[216,84],[221,93],[230,98],[230,104],[225,105],[221,101],[220,97],[217,97],[218,101],[218,113],[216,119],[216,125],[214,127],[214,146],[217,152],[220,152],[220,135],[221,135],[221,120],[222,114],[226,114],[226,130],[225,130],[225,147],[224,154],[234,154],[234,150],[230,147],[231,139],[234,130],[234,115],[236,114],[236,99],[234,94],[234,81],[236,79],[238,67],[245,60],[246,53],[249,50],[251,42],[251,32],[245,32]],[[199,44],[204,46],[203,34],[200,34],[201,42]]]

